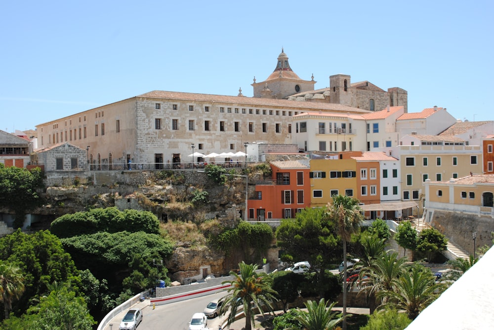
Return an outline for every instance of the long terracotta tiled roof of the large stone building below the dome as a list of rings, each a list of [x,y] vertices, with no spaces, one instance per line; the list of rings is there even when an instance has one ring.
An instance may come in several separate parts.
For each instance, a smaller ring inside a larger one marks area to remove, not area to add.
[[[151,98],[151,99],[167,99],[177,101],[190,101],[190,102],[217,102],[225,104],[238,104],[239,107],[280,107],[293,110],[322,110],[322,111],[337,111],[337,112],[353,112],[353,113],[368,113],[369,110],[363,110],[358,108],[352,108],[334,103],[319,103],[319,102],[297,102],[289,100],[278,99],[264,99],[245,96],[227,96],[227,95],[213,95],[213,94],[198,94],[198,93],[185,93],[185,92],[168,92],[168,91],[152,91],[149,93],[136,96],[137,98]]]

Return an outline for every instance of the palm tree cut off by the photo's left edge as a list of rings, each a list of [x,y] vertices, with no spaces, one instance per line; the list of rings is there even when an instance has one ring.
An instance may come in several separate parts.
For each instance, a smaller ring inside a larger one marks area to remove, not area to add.
[[[3,302],[5,319],[8,319],[12,300],[19,298],[24,292],[23,281],[24,276],[19,267],[0,260],[0,299]]]

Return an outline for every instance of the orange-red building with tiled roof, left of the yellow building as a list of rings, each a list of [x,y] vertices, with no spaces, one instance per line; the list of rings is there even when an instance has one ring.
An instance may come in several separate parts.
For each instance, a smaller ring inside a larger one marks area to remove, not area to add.
[[[309,160],[276,160],[269,163],[271,180],[256,182],[247,200],[248,220],[290,219],[310,206]]]

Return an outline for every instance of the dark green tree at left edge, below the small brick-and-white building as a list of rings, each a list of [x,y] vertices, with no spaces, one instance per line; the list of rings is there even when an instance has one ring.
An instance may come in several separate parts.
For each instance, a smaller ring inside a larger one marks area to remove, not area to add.
[[[42,186],[40,168],[26,170],[0,164],[0,206],[15,212],[15,227],[22,227],[26,212],[41,204],[37,189]]]

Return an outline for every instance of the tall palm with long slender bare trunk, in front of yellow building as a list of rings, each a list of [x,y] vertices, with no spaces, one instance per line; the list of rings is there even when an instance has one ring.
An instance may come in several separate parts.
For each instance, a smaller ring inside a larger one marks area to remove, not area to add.
[[[333,202],[328,203],[328,213],[336,225],[336,232],[343,241],[343,330],[346,330],[346,294],[347,294],[347,265],[346,242],[352,234],[357,233],[364,219],[359,200],[351,196],[334,195]]]

